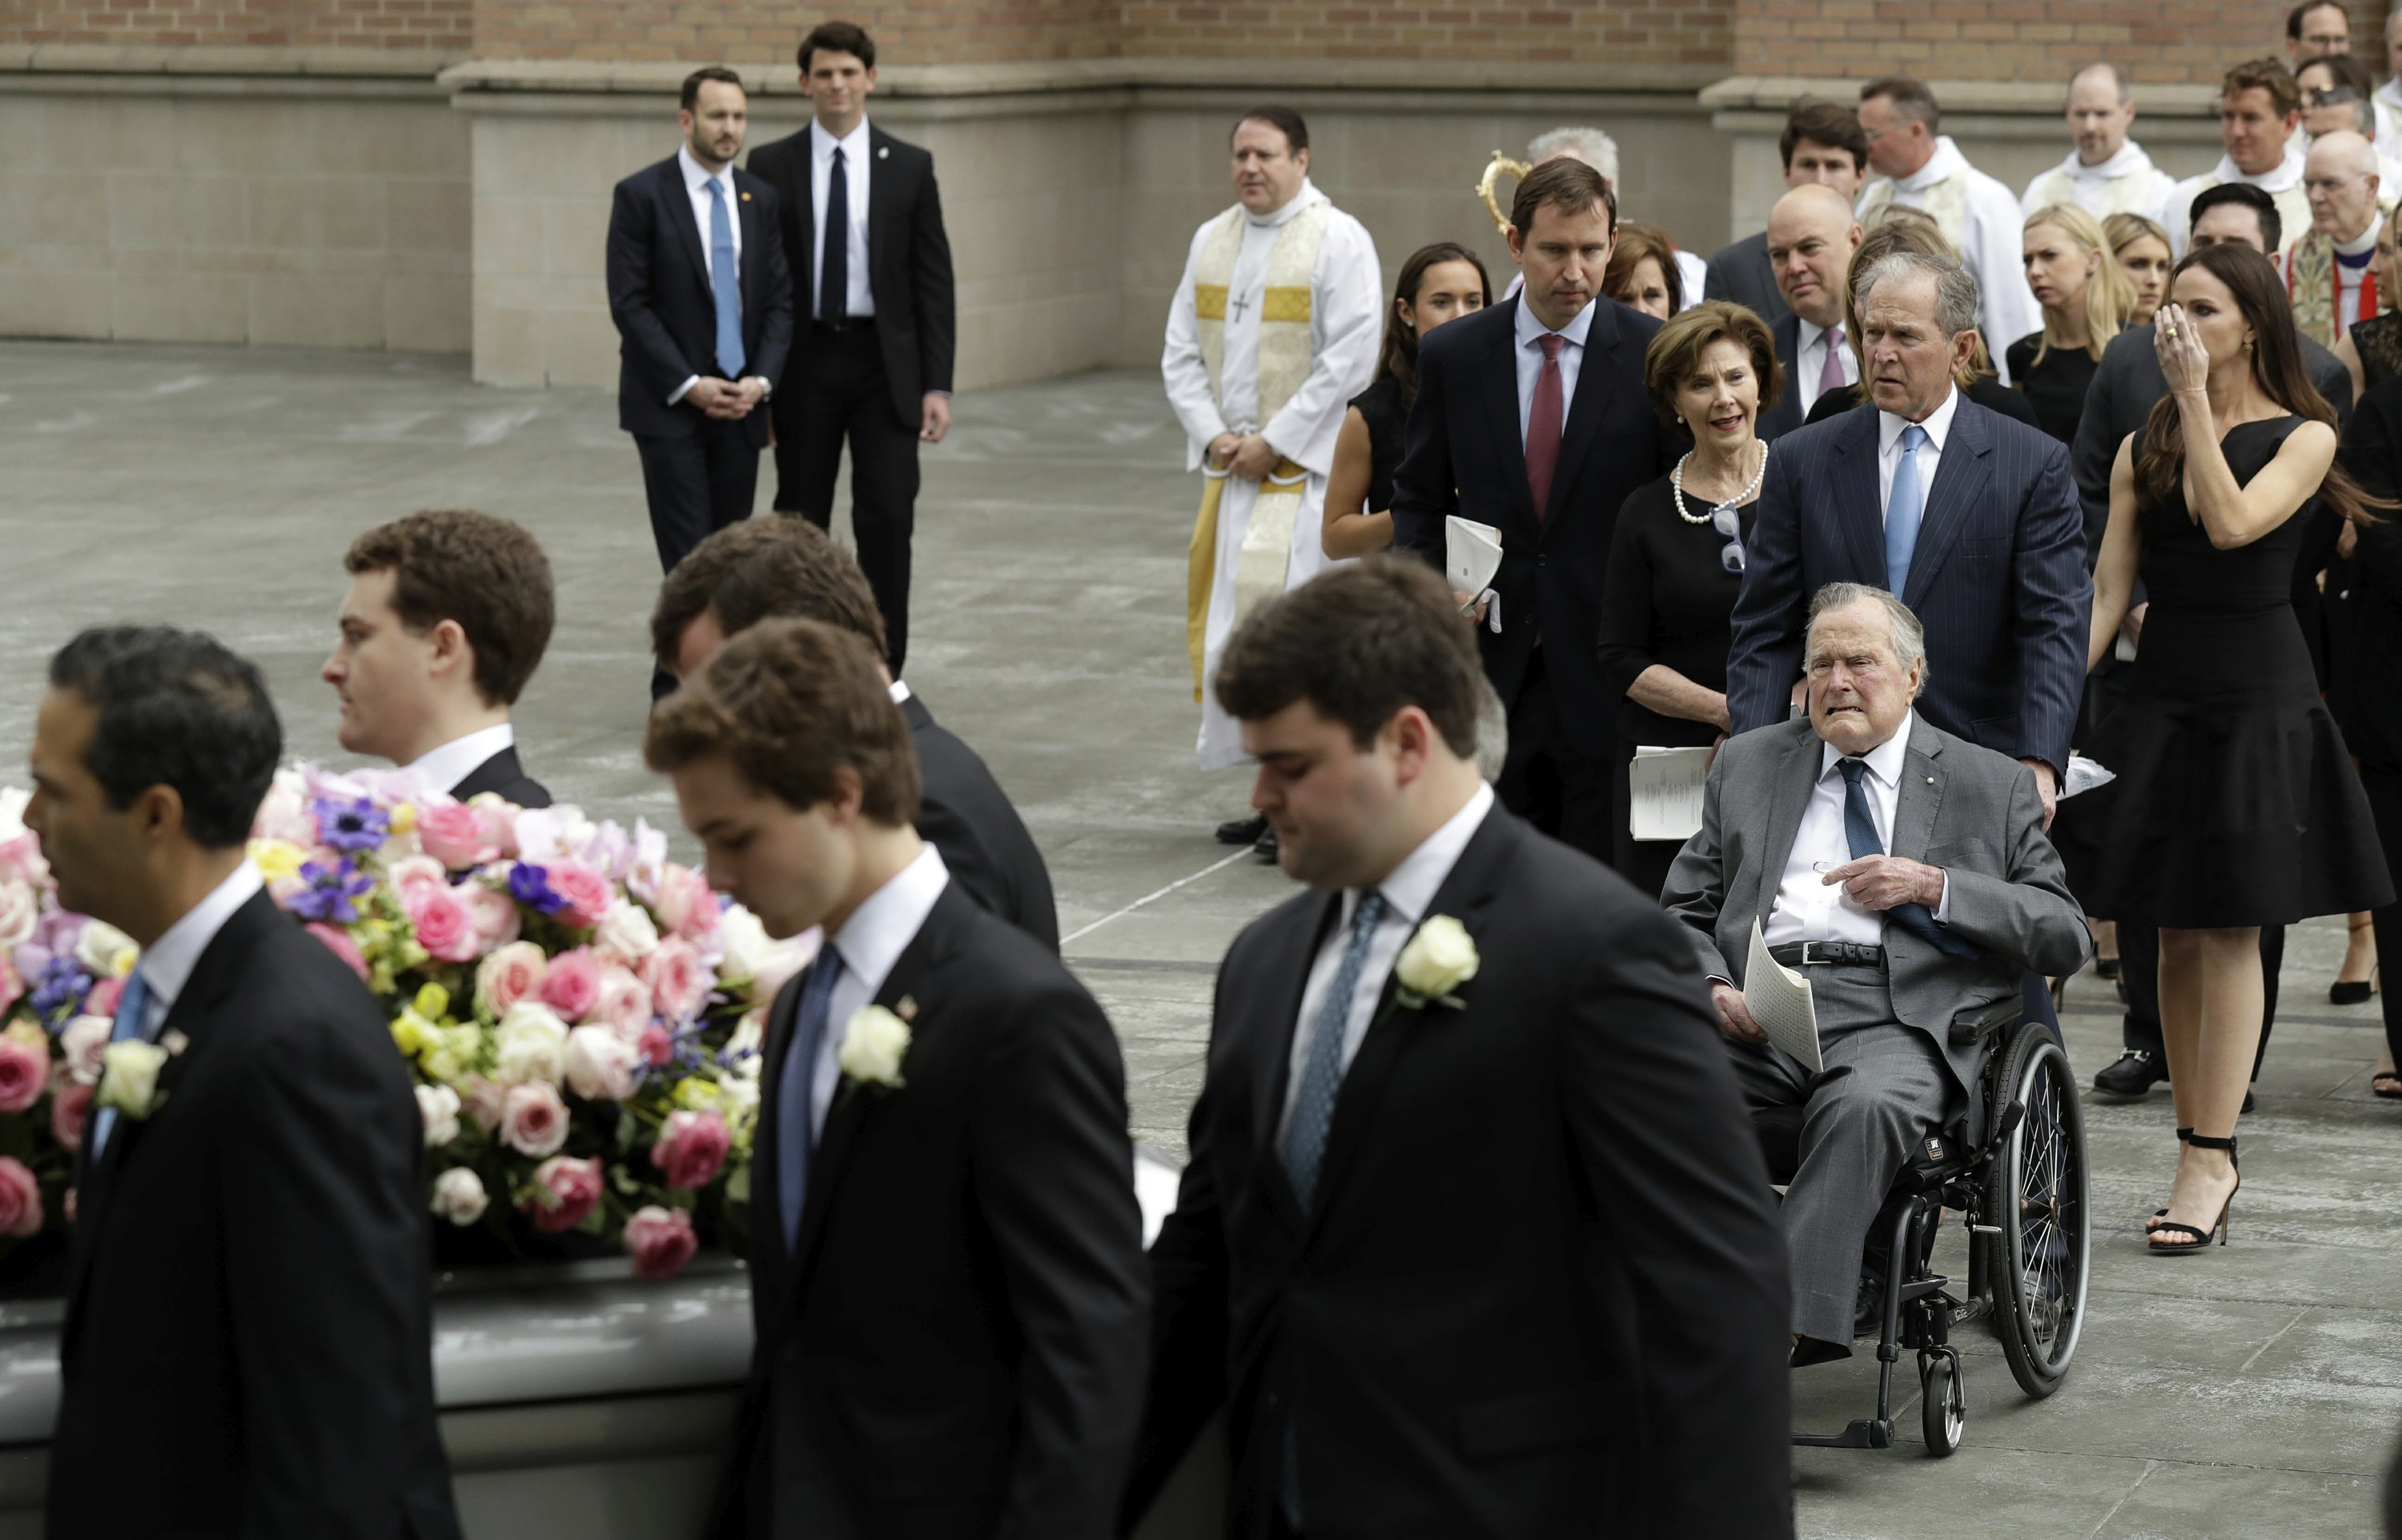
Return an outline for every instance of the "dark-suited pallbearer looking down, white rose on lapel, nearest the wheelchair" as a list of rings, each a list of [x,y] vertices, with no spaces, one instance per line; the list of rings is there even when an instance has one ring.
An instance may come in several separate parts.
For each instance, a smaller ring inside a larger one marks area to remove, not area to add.
[[[1218,971],[1129,1516],[1225,1410],[1232,1535],[1789,1535],[1785,1247],[1691,947],[1494,805],[1475,673],[1400,557],[1218,668],[1311,891]]]

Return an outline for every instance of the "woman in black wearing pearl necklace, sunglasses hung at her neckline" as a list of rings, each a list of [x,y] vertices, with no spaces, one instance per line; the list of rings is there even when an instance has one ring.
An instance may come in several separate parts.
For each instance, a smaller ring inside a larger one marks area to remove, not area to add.
[[[1727,738],[1727,644],[1744,586],[1744,538],[1768,471],[1761,408],[1785,389],[1768,324],[1703,300],[1643,353],[1660,423],[1693,449],[1619,507],[1602,589],[1602,678],[1619,687],[1612,865],[1657,896],[1684,841],[1633,836],[1626,771],[1636,747],[1713,747]]]

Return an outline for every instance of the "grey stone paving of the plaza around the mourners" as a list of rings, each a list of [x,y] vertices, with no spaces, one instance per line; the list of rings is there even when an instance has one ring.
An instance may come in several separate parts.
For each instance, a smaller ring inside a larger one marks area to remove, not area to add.
[[[675,829],[639,759],[658,567],[610,394],[480,389],[456,358],[0,344],[0,783],[22,781],[48,653],[101,620],[214,629],[267,668],[291,752],[339,764],[317,665],[343,548],[411,509],[480,507],[533,529],[560,579],[516,716],[528,769],[593,814]],[[1208,838],[1249,781],[1194,766],[1182,464],[1146,372],[961,396],[925,456],[908,661],[1042,843],[1066,956],[1124,1043],[1136,1136],[1170,1158],[1218,956],[1290,891]],[[2373,1533],[2402,1429],[2402,1108],[2368,1096],[2376,1004],[2328,1004],[2340,954],[2340,920],[2287,947],[2234,1244],[2147,1257],[2167,1096],[2087,1103],[2095,1288],[2068,1384],[2025,1401],[1972,1331],[1967,1446],[1922,1456],[1912,1379],[1900,1449],[1797,1454],[1804,1535]],[[2085,1076],[2107,1064],[2111,987],[2078,978],[2066,1028]],[[1794,1391],[1804,1425],[1840,1427],[1874,1398],[1874,1360]]]

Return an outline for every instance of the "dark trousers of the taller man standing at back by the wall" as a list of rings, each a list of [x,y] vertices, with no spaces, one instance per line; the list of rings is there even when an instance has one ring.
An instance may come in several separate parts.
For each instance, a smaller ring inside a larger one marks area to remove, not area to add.
[[[833,526],[850,442],[850,538],[884,610],[894,678],[908,653],[908,538],[918,519],[918,420],[894,411],[874,322],[812,324],[776,387],[776,512]]]

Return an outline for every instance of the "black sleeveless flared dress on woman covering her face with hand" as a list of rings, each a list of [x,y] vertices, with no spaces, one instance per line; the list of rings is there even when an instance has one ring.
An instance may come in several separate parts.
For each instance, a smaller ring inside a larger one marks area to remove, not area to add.
[[[2236,483],[2301,423],[2231,428]],[[2126,702],[2083,750],[2119,778],[2061,802],[2054,824],[2085,913],[2207,930],[2390,903],[2368,800],[2294,620],[2306,519],[2217,550],[2179,493],[2138,526],[2152,608]]]

